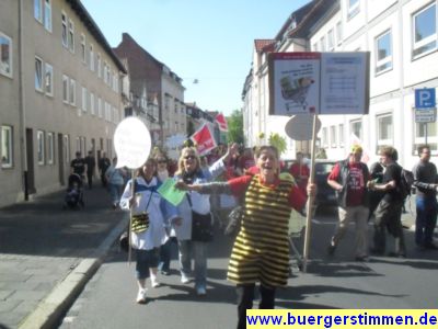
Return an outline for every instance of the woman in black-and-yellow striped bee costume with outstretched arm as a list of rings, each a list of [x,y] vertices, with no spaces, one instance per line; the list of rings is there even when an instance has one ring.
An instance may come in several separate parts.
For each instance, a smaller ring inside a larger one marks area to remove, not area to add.
[[[244,215],[234,241],[228,279],[237,284],[238,328],[246,326],[246,309],[253,307],[255,284],[260,283],[260,308],[274,308],[276,288],[289,276],[288,224],[291,208],[302,211],[307,196],[290,180],[279,178],[279,155],[273,146],[256,151],[255,175],[228,182],[184,181],[178,188],[189,193],[228,193],[244,200]],[[309,186],[314,193],[314,185]]]

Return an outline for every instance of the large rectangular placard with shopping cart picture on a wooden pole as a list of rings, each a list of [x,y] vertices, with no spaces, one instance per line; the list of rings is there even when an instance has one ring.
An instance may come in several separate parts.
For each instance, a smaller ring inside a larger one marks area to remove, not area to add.
[[[269,114],[367,114],[369,53],[272,53]]]

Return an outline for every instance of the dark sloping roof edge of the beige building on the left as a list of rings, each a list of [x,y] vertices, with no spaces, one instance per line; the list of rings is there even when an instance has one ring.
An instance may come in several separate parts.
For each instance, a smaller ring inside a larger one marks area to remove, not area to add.
[[[118,57],[114,54],[112,47],[110,46],[108,42],[106,41],[105,36],[103,35],[102,31],[99,29],[97,24],[91,18],[90,13],[87,11],[85,7],[81,3],[80,0],[66,0],[67,3],[70,4],[71,9],[78,14],[81,19],[83,25],[90,31],[90,33],[94,36],[97,43],[105,49],[105,52],[110,55],[110,57],[114,60],[117,65],[118,69],[127,73],[125,66],[118,59]]]

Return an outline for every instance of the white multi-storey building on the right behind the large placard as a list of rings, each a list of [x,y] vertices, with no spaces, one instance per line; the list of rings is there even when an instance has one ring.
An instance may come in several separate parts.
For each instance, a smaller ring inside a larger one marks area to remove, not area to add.
[[[307,10],[304,16],[293,21],[301,10]],[[288,27],[281,29],[283,38],[275,38],[275,52],[370,52],[369,114],[320,116],[319,143],[328,158],[346,157],[356,135],[370,161],[377,159],[379,146],[392,145],[399,150],[399,162],[411,168],[417,161],[416,146],[426,141],[426,124],[415,123],[414,90],[438,87],[437,1],[314,0],[295,13],[286,22]],[[252,70],[263,66],[265,60],[258,66],[253,63]],[[256,92],[256,88],[265,90]],[[245,117],[258,110],[266,113],[268,101],[261,94],[268,95],[265,83],[253,78],[252,84],[245,84]],[[265,135],[273,122],[278,121],[266,117]],[[279,124],[275,127],[283,131]],[[438,154],[437,132],[436,122],[427,124],[433,155]],[[304,149],[304,145],[295,147]]]

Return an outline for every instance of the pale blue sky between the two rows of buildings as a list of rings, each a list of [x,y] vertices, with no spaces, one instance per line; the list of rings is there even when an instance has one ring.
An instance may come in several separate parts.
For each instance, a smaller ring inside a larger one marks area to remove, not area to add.
[[[254,39],[275,38],[288,16],[310,0],[81,2],[112,47],[129,33],[183,79],[186,103],[230,115],[243,104]]]

